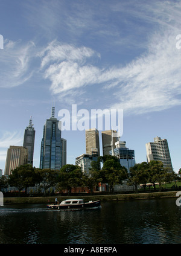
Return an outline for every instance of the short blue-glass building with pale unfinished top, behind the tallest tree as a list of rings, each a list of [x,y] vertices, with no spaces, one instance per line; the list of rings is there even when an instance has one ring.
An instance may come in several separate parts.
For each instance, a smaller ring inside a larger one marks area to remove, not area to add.
[[[130,167],[135,165],[135,150],[125,147],[125,141],[117,141],[115,146],[116,148],[110,151],[110,155],[116,156],[120,164],[127,168],[130,174]]]

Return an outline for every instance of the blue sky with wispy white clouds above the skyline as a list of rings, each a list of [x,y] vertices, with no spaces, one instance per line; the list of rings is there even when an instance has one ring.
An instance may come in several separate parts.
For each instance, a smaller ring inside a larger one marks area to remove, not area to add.
[[[180,1],[1,0],[0,24],[3,172],[7,149],[23,145],[31,116],[34,166],[39,168],[43,125],[52,104],[58,120],[62,109],[72,114],[72,105],[89,114],[123,110],[120,140],[135,150],[136,163],[147,161],[145,144],[159,136],[167,139],[174,171],[179,171]],[[63,130],[62,138],[67,164],[75,164],[86,153],[85,130]]]

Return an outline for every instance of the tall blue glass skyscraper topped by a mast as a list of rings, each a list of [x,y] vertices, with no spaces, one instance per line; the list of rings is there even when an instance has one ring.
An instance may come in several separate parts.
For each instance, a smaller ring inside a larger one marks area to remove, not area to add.
[[[51,118],[46,120],[43,127],[40,152],[41,169],[51,168],[52,170],[60,170],[62,168],[62,138],[59,128],[59,120],[55,118],[55,107],[52,107]]]

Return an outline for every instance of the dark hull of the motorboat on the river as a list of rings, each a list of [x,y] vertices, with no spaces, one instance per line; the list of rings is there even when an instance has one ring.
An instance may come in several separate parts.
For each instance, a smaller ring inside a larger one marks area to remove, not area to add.
[[[87,203],[74,203],[74,204],[63,204],[63,205],[46,205],[49,210],[84,210],[90,208],[97,208],[101,205],[101,200]]]

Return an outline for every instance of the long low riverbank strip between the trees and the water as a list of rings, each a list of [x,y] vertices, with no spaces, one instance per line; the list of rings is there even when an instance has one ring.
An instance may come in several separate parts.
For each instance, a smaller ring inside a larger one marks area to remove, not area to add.
[[[27,204],[27,203],[54,203],[57,197],[59,202],[65,199],[83,199],[84,202],[89,202],[90,200],[101,200],[102,202],[110,200],[141,200],[141,199],[160,199],[160,198],[170,198],[176,197],[177,191],[168,192],[154,192],[154,193],[133,193],[133,194],[93,194],[85,196],[51,196],[51,197],[4,197],[4,205],[10,204]]]

